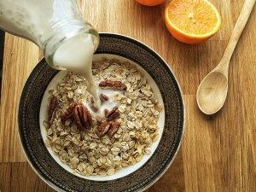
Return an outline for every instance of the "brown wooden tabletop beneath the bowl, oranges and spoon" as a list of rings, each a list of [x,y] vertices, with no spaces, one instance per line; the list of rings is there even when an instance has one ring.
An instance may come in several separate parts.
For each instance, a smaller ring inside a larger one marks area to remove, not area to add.
[[[99,32],[137,38],[156,50],[183,90],[186,131],[172,166],[148,192],[256,191],[256,9],[230,61],[224,108],[207,116],[195,102],[201,79],[220,61],[243,0],[211,0],[222,15],[220,31],[204,44],[177,42],[166,30],[164,5],[149,8],[133,0],[84,0],[85,18]],[[6,34],[0,109],[0,191],[54,191],[33,171],[20,148],[20,93],[42,58],[35,44]]]

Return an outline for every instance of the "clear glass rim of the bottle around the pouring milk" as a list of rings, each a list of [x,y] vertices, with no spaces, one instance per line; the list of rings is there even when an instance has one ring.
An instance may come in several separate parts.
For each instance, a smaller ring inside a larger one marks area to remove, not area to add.
[[[59,62],[55,61],[56,53],[58,53],[58,50],[60,49],[62,49],[63,51],[63,47],[67,47],[67,45],[65,46],[65,44],[69,44],[75,38],[77,38],[76,44],[79,44],[78,39],[83,41],[84,38],[90,38],[91,44],[93,46],[93,53],[96,51],[100,40],[98,32],[96,32],[96,30],[92,26],[90,26],[89,23],[85,23],[85,25],[82,26],[68,26],[65,33],[56,33],[53,37],[49,38],[49,40],[46,41],[46,44],[44,46],[44,57],[50,67],[57,70],[67,69],[67,67],[62,67]],[[67,47],[67,49],[70,48]],[[75,53],[75,51],[76,50],[73,49],[69,54],[73,54]]]

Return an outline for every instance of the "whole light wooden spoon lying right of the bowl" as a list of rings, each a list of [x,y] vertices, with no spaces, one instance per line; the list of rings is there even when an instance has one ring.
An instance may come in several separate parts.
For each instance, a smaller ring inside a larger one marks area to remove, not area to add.
[[[247,24],[247,20],[253,10],[255,1],[256,0],[245,0],[222,60],[211,73],[207,74],[198,87],[196,101],[203,113],[216,113],[224,105],[228,93],[230,58],[236,48],[237,41],[241,36],[243,28]]]

